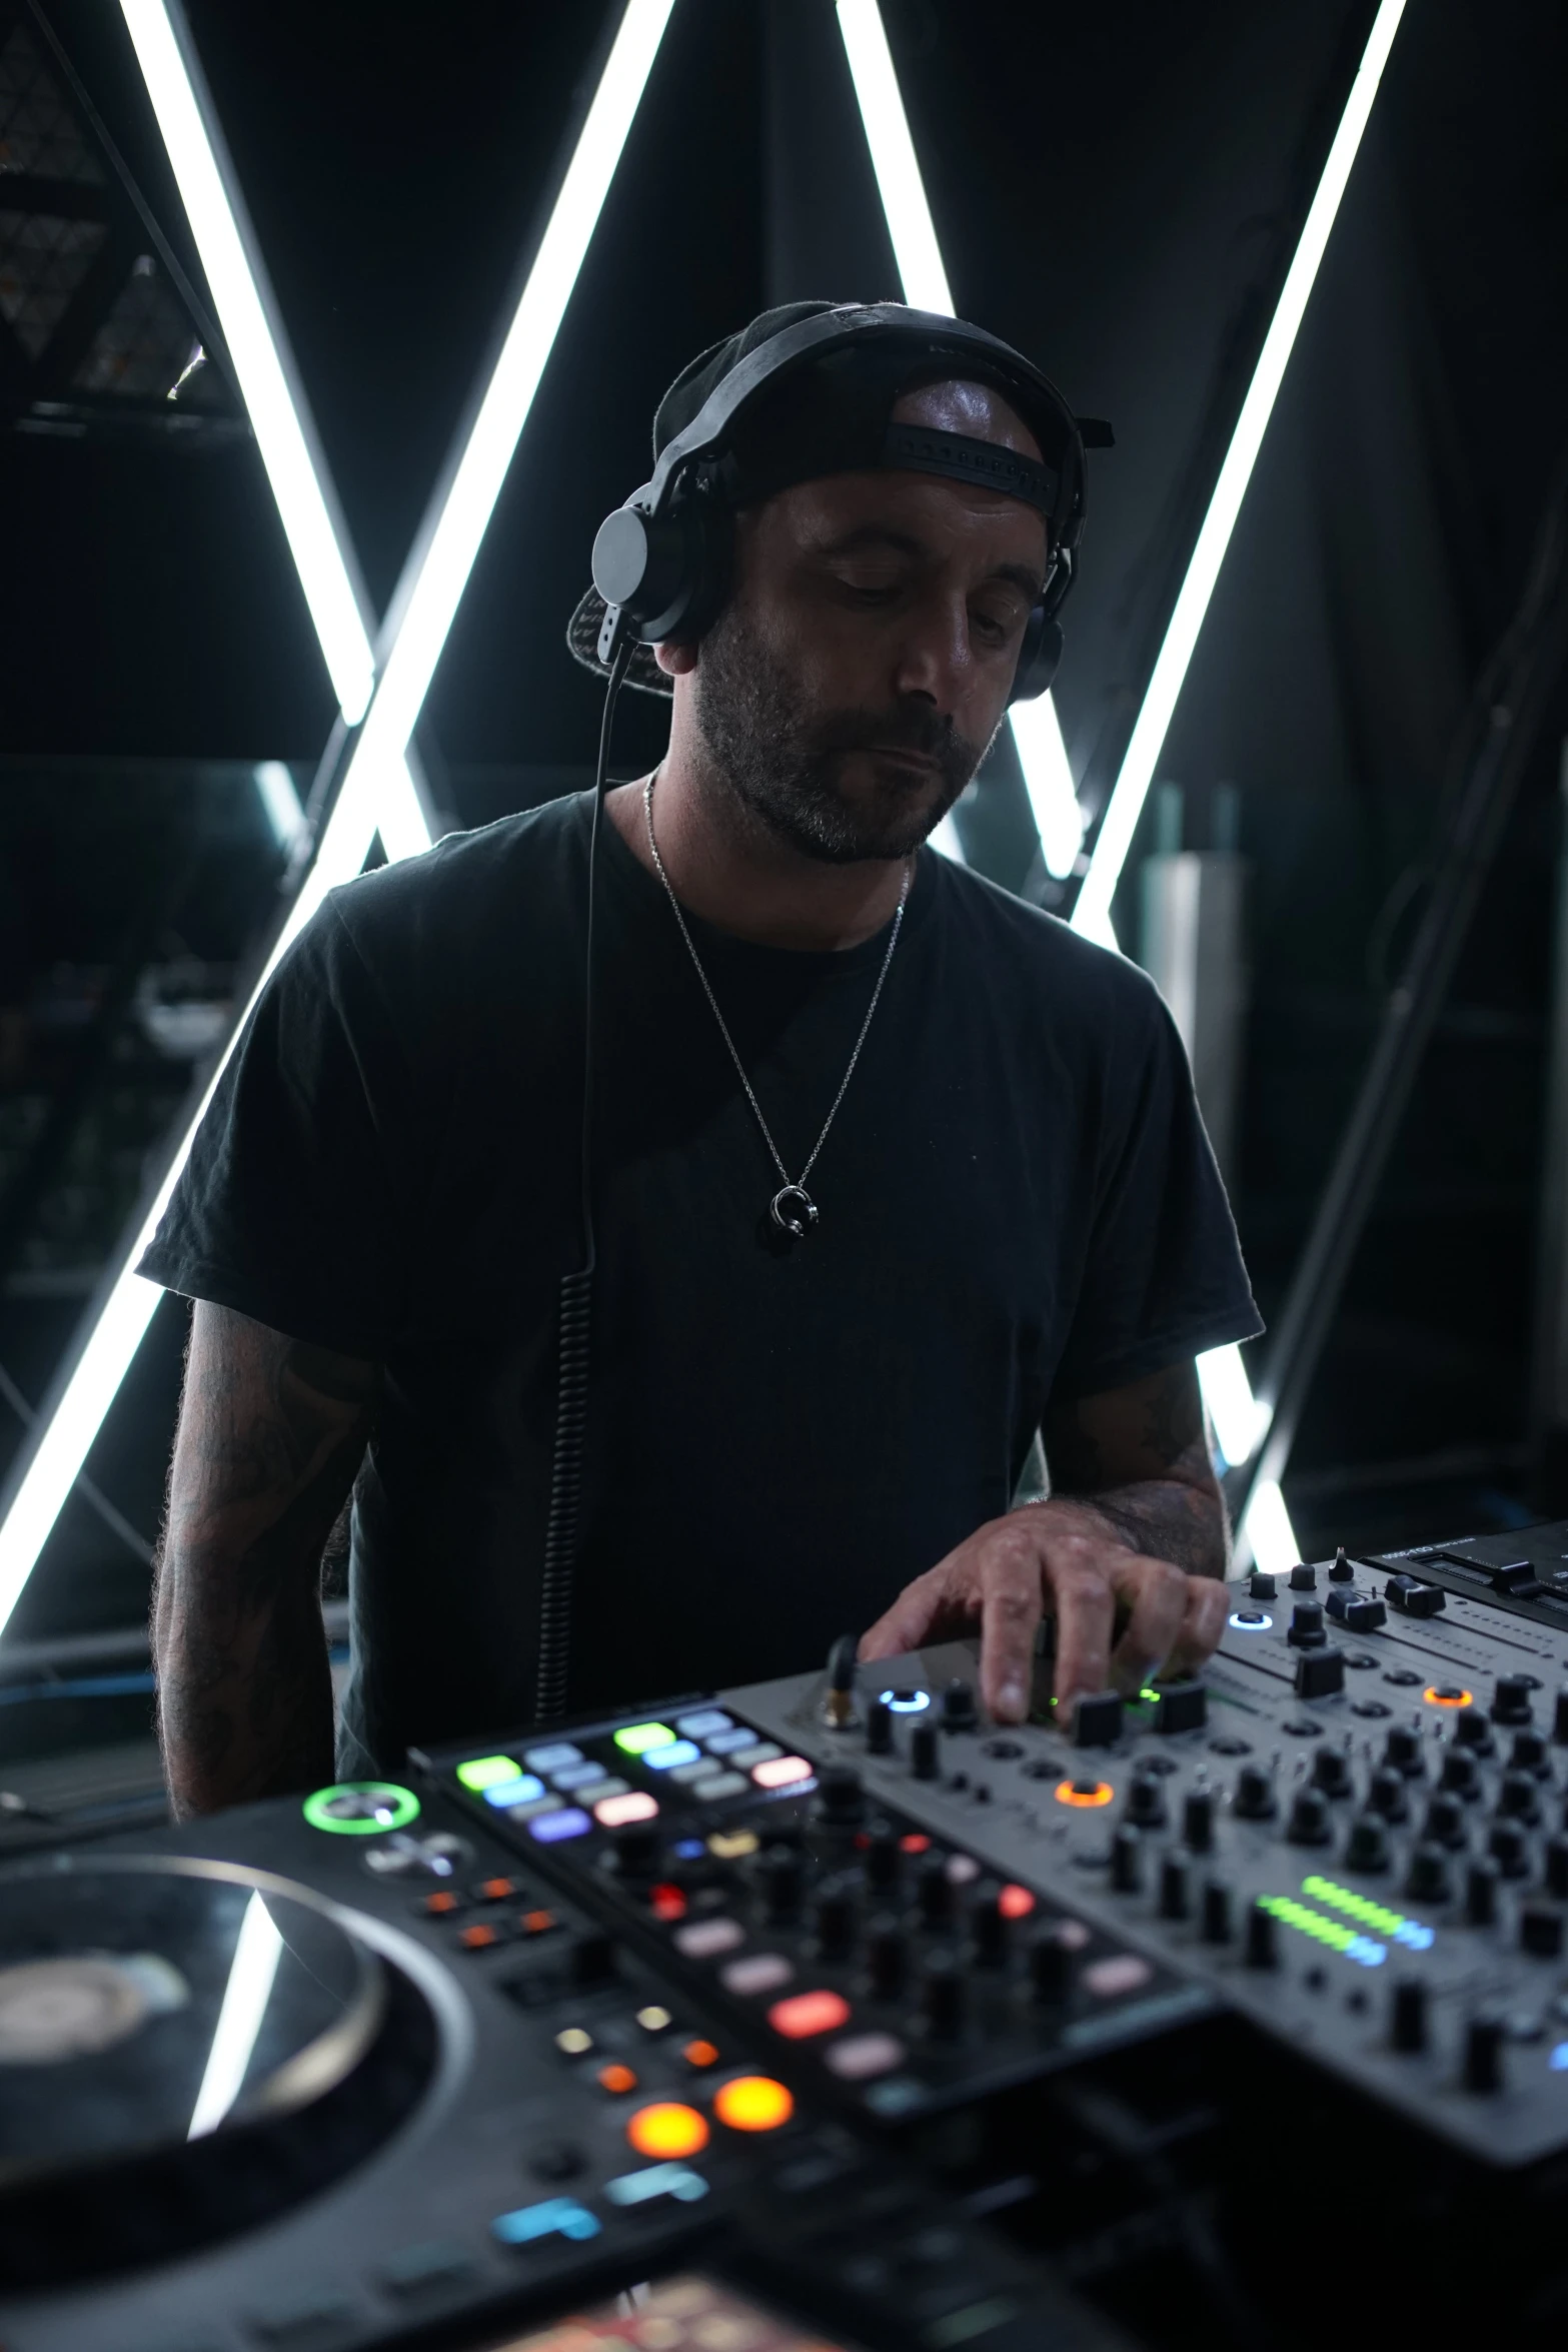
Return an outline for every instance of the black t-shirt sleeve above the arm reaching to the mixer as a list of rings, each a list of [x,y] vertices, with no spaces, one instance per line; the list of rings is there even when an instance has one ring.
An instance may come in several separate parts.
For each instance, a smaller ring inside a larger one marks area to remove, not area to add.
[[[1126,1388],[1262,1331],[1187,1054],[1143,981],[1117,1007],[1105,1112],[1056,1399]]]

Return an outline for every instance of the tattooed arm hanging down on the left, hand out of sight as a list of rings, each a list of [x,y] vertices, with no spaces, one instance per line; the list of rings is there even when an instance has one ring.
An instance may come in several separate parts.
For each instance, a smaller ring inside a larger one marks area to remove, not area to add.
[[[197,1303],[153,1588],[176,1818],[331,1780],[320,1559],[381,1371]]]

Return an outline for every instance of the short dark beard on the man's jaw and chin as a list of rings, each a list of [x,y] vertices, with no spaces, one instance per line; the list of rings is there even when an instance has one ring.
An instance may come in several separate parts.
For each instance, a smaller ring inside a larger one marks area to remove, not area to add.
[[[886,710],[820,710],[736,604],[703,637],[696,724],[743,811],[825,866],[907,858],[980,764],[950,717],[910,696]],[[907,750],[931,767],[877,753]],[[851,790],[858,762],[867,786]]]

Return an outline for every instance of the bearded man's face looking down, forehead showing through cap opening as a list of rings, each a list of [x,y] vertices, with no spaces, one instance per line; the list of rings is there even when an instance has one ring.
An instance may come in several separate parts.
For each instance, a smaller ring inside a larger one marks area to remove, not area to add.
[[[978,383],[910,393],[893,419],[1039,459]],[[907,856],[997,731],[1044,576],[1044,517],[966,482],[827,475],[748,510],[691,675],[717,776],[811,858]]]

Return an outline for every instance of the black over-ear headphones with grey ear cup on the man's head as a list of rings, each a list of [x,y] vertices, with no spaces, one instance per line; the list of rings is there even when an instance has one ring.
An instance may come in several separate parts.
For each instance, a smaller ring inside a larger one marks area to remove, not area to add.
[[[1074,416],[1048,376],[983,327],[905,310],[900,303],[823,310],[769,336],[715,386],[684,433],[661,454],[654,477],[607,515],[592,543],[592,583],[607,607],[597,642],[602,666],[614,663],[628,640],[693,644],[712,626],[731,579],[733,503],[724,473],[736,430],[785,376],[851,346],[905,350],[912,367],[950,360],[954,376],[969,367],[1020,397],[1030,426],[1041,435],[1039,466],[990,442],[900,426],[889,428],[877,461],[987,480],[1025,496],[1046,515],[1051,572],[1023,633],[1009,701],[1046,691],[1063,659],[1056,616],[1072,588],[1084,532],[1084,447],[1107,447],[1110,426]]]

